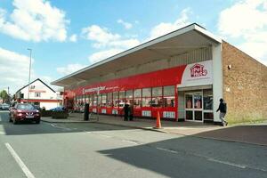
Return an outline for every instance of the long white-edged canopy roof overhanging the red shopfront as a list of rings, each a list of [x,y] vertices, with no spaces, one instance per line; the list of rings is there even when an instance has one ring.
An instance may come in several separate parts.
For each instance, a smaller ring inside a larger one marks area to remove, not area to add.
[[[214,36],[198,24],[193,23],[165,36],[160,36],[149,42],[140,44],[123,53],[118,53],[108,59],[94,63],[66,77],[61,77],[51,84],[60,86],[72,85],[89,78],[101,77],[147,62],[169,59],[172,56],[186,53],[193,49],[221,43],[222,40],[220,38]]]

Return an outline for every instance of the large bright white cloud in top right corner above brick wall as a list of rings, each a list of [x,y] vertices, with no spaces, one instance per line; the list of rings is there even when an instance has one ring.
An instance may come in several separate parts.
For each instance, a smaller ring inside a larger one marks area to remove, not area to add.
[[[220,13],[218,29],[231,40],[242,41],[238,47],[267,65],[267,1],[246,0]]]

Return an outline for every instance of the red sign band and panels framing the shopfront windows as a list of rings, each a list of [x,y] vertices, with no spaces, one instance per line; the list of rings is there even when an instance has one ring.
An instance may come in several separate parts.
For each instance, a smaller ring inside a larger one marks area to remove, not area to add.
[[[174,107],[134,107],[134,117],[157,117],[158,111],[160,117],[177,120],[178,93],[177,85],[181,84],[182,74],[186,65],[174,67],[170,69],[161,69],[150,73],[140,74],[131,77],[118,78],[107,82],[97,83],[78,87],[73,90],[65,90],[64,104],[73,109],[74,98],[81,95],[93,95],[99,93],[113,93],[127,90],[135,90],[142,88],[152,88],[159,86],[174,85],[175,104]],[[163,94],[162,94],[163,95]],[[182,99],[183,100],[183,99]],[[113,100],[112,100],[113,101]],[[96,111],[97,106],[90,106],[90,111]],[[101,114],[120,114],[121,107],[99,107],[98,112]]]

